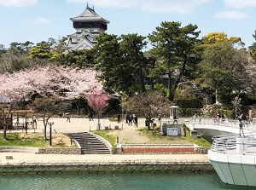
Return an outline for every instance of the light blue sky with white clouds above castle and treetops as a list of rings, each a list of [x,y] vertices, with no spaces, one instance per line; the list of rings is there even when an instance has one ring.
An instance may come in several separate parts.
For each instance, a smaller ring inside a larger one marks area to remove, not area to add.
[[[162,21],[179,21],[197,25],[201,37],[225,32],[246,47],[255,42],[256,0],[0,0],[0,44],[67,37],[87,3],[110,21],[109,34],[148,36]]]

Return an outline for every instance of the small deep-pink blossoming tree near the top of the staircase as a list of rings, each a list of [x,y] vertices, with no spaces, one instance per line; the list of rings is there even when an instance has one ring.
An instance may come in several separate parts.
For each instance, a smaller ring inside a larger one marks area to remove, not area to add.
[[[97,130],[101,130],[100,115],[108,107],[109,96],[103,90],[90,89],[88,95],[88,105],[97,114],[98,125]]]

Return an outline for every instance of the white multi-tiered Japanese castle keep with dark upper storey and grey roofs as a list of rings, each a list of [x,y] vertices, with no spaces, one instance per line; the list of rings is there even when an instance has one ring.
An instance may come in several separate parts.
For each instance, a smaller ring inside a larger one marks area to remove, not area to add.
[[[67,44],[63,47],[64,54],[72,50],[91,49],[96,44],[96,37],[107,30],[108,20],[96,14],[94,9],[86,6],[82,14],[70,19],[76,32],[67,35]]]

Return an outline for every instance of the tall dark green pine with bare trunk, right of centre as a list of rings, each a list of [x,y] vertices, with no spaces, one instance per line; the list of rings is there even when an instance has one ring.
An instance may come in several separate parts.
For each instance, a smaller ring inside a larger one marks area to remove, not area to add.
[[[177,84],[187,71],[187,66],[195,57],[195,46],[199,43],[197,26],[181,26],[180,22],[162,22],[156,31],[148,35],[153,45],[153,55],[157,63],[151,72],[153,76],[167,75],[168,96],[173,101]]]

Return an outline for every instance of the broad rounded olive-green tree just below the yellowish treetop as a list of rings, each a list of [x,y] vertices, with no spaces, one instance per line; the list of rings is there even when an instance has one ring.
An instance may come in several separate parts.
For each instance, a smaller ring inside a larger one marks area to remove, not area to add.
[[[229,106],[234,96],[252,92],[254,66],[248,61],[245,49],[235,49],[230,42],[215,43],[205,50],[202,58],[201,87],[215,92],[216,103]]]

